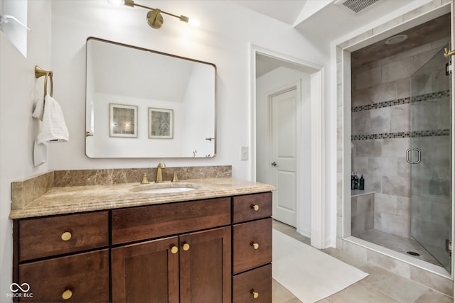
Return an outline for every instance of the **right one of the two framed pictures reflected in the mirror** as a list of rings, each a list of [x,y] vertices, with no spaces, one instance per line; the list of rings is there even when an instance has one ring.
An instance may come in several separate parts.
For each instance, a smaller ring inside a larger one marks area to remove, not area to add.
[[[149,107],[149,138],[173,138],[173,110]]]

